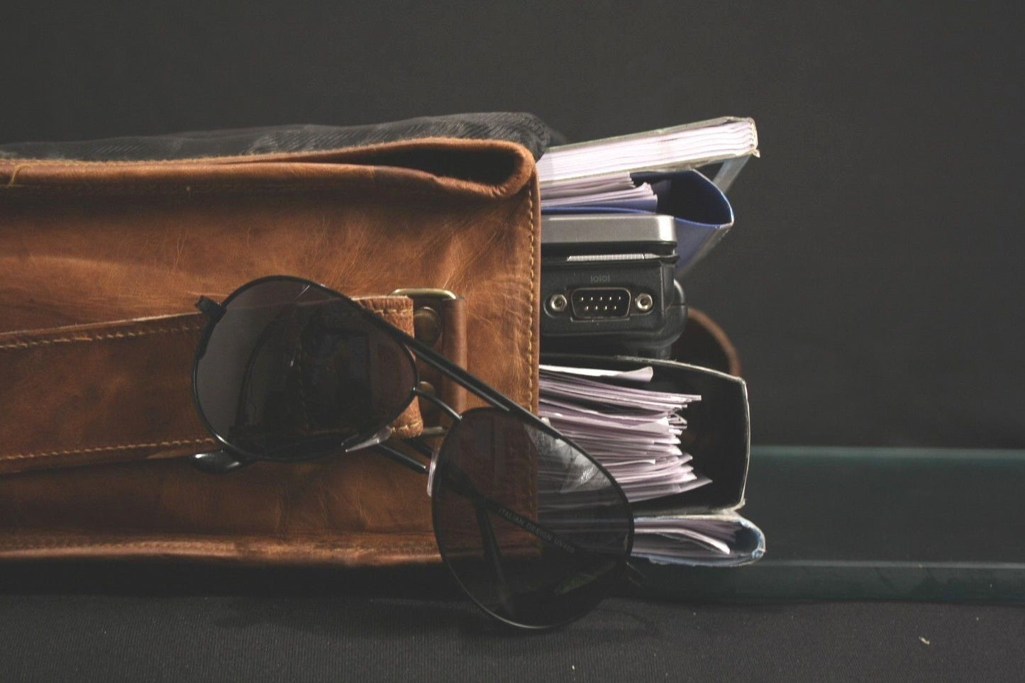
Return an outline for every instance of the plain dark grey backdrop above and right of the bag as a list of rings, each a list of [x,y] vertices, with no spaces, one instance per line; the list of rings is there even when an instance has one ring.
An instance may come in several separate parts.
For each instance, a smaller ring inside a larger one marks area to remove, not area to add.
[[[685,285],[740,350],[754,440],[1025,446],[1013,9],[119,4],[4,10],[0,142],[488,110],[584,139],[752,116],[737,225]]]

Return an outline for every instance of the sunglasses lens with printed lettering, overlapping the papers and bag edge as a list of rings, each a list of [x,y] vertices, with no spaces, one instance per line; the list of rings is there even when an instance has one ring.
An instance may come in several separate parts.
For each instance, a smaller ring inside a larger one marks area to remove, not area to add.
[[[580,449],[499,410],[471,410],[450,430],[433,505],[449,568],[478,604],[517,626],[586,613],[629,554],[619,487]]]

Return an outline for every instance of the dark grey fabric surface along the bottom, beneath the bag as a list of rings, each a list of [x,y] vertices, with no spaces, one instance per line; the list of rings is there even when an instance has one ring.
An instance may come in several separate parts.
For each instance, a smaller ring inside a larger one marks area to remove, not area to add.
[[[0,597],[14,681],[1007,681],[1025,610],[614,599],[549,634],[461,601],[318,596]]]

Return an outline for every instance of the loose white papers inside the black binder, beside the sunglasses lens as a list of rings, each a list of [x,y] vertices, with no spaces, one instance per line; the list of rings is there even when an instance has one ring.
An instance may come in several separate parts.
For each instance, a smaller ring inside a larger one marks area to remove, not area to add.
[[[681,410],[701,397],[652,391],[651,367],[630,372],[541,366],[540,414],[601,463],[630,503],[710,480],[681,448]],[[634,386],[627,386],[627,385]]]

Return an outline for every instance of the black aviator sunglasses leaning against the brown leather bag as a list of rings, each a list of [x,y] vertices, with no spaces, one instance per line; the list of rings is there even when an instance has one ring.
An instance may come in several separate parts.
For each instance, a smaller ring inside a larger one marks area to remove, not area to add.
[[[511,399],[309,280],[260,278],[197,307],[209,322],[193,365],[194,399],[222,445],[195,455],[199,469],[370,448],[427,475],[445,564],[474,602],[512,626],[572,621],[619,580],[633,541],[622,489]],[[414,357],[488,406],[458,413],[420,391]],[[416,398],[451,418],[437,446],[388,441],[388,425]]]

